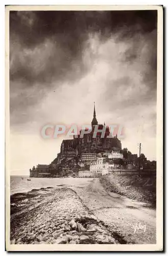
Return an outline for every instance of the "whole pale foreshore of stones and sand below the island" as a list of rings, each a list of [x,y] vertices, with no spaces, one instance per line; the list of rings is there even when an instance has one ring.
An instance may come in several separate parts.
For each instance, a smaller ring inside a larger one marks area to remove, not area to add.
[[[98,178],[24,179],[11,186],[12,244],[156,243],[155,209],[105,191]],[[139,223],[145,232],[134,232]]]

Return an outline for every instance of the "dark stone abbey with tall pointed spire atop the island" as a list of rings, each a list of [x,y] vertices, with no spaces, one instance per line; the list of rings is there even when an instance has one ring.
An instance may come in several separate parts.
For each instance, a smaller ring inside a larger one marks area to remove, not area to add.
[[[81,158],[83,154],[88,154],[92,156],[98,153],[103,152],[111,152],[113,148],[120,151],[121,148],[121,141],[117,138],[117,136],[112,138],[107,138],[109,136],[110,131],[109,127],[106,126],[105,128],[105,135],[104,138],[101,138],[101,132],[97,133],[96,138],[93,138],[94,127],[98,125],[98,129],[102,130],[105,126],[103,124],[98,124],[96,119],[96,111],[94,105],[94,114],[92,120],[92,132],[89,134],[84,134],[83,138],[80,138],[80,134],[73,137],[73,139],[63,140],[61,144],[61,152],[57,156],[57,163],[61,163],[62,159],[69,158],[69,157],[79,157]],[[81,133],[81,131],[80,131]],[[84,155],[85,155],[84,154]]]

